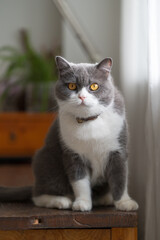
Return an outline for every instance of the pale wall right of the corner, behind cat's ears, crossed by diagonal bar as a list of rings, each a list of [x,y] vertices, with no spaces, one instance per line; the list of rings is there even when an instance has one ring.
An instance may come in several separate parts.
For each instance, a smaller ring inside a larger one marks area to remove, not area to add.
[[[102,56],[112,57],[113,76],[119,79],[120,0],[66,0],[88,38]],[[87,62],[88,57],[70,26],[63,24],[63,56],[72,62]]]

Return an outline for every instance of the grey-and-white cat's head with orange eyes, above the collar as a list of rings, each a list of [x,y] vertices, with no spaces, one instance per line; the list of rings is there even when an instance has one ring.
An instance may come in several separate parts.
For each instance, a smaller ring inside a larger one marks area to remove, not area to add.
[[[74,64],[58,56],[56,63],[59,80],[55,95],[60,110],[76,117],[90,117],[111,104],[114,90],[111,58],[96,64]]]

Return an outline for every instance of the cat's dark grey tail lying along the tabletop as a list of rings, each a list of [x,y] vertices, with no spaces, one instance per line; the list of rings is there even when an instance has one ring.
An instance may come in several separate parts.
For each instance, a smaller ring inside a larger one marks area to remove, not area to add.
[[[32,189],[32,186],[0,187],[0,202],[23,202],[31,200]]]

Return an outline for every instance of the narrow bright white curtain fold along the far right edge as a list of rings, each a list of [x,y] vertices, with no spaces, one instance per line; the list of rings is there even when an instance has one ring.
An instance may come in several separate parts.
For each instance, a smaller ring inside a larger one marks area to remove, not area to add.
[[[160,239],[160,1],[148,1],[146,240]]]

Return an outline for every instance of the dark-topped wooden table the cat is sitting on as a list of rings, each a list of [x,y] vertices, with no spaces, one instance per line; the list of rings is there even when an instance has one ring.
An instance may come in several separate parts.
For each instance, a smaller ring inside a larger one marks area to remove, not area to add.
[[[136,240],[137,213],[111,207],[73,212],[38,208],[32,203],[1,203],[0,239]]]

